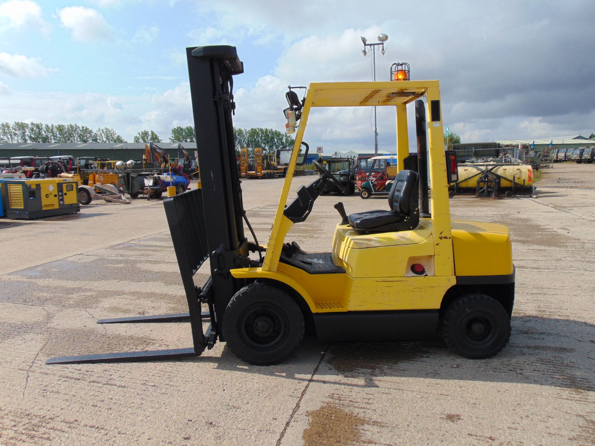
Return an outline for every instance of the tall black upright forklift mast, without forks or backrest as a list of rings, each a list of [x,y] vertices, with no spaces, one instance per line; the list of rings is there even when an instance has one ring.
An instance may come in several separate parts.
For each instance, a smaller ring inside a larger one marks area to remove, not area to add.
[[[202,172],[202,216],[211,263],[212,299],[216,315],[223,315],[240,286],[230,269],[249,266],[248,240],[242,189],[236,164],[232,114],[233,77],[243,73],[234,46],[202,46],[186,49],[190,97]],[[223,340],[221,317],[216,328]],[[213,327],[215,328],[215,327]]]

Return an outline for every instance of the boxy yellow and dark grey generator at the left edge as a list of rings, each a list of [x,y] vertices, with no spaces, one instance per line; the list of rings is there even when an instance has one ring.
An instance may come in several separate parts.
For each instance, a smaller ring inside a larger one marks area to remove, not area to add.
[[[39,218],[80,211],[77,182],[65,178],[4,180],[8,218]]]

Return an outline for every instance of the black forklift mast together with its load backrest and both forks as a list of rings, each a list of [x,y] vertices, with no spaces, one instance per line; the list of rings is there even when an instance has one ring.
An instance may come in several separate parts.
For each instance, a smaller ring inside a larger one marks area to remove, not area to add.
[[[258,266],[250,260],[249,250],[260,251],[244,236],[246,221],[238,178],[236,149],[231,115],[234,74],[243,73],[243,64],[234,46],[187,48],[190,96],[192,99],[202,188],[164,200],[164,209],[176,251],[180,275],[188,301],[188,313],[101,319],[98,323],[190,322],[193,347],[167,350],[130,351],[52,358],[46,364],[133,362],[198,356],[223,338],[223,313],[227,304],[245,283],[230,269]],[[153,153],[160,149],[148,147]],[[256,242],[258,243],[258,242]],[[262,254],[259,252],[262,261]],[[193,276],[210,260],[211,277],[198,286]],[[202,304],[208,311],[202,312]],[[206,332],[202,323],[210,322]]]

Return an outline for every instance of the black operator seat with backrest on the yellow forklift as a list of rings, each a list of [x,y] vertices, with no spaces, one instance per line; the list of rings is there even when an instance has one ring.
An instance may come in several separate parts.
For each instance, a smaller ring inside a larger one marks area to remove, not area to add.
[[[347,221],[358,233],[389,233],[417,228],[419,181],[412,170],[402,170],[389,192],[390,211],[352,213]]]

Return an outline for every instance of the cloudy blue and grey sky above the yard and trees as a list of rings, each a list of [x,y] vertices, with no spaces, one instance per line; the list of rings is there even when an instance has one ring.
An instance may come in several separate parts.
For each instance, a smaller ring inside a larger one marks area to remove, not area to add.
[[[186,46],[237,46],[236,127],[284,130],[288,84],[377,79],[406,61],[439,79],[444,124],[462,142],[595,131],[595,2],[0,0],[0,122],[143,129],[189,125]],[[380,149],[394,111],[378,109]],[[371,109],[317,110],[305,140],[373,149]]]

